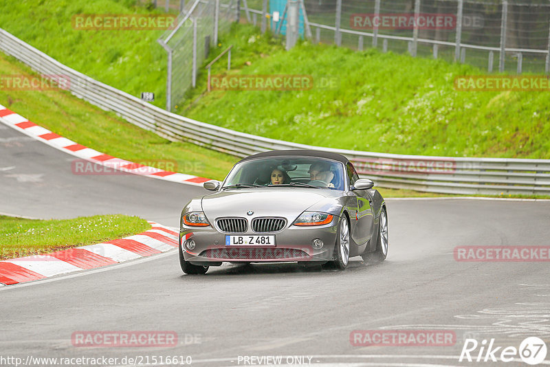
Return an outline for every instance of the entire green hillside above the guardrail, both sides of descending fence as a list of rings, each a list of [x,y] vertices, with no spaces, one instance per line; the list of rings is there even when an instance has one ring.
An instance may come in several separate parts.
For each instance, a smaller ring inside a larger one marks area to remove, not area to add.
[[[28,0],[0,4],[0,24],[79,71],[137,96],[154,91],[164,105],[162,31],[78,31],[78,13],[151,12],[135,1]],[[550,157],[546,92],[454,91],[455,76],[484,74],[442,60],[354,52],[304,42],[285,52],[281,40],[236,25],[221,36],[234,45],[230,74],[300,74],[336,80],[303,91],[212,91],[201,67],[197,89],[177,111],[246,133],[318,146],[386,153],[476,157]],[[206,62],[208,62],[207,60]],[[225,74],[225,62],[212,70]]]

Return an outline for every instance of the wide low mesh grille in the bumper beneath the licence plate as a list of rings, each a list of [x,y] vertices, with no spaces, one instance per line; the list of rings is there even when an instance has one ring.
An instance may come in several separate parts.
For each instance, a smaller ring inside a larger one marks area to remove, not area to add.
[[[281,260],[292,258],[306,258],[309,255],[301,249],[274,248],[220,248],[206,249],[199,256],[205,258],[219,258],[225,260]]]

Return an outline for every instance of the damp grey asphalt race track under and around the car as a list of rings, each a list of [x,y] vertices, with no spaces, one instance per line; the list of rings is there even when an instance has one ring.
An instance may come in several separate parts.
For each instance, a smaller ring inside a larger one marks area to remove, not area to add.
[[[73,175],[74,157],[3,125],[0,157],[0,212],[135,214],[177,226],[182,205],[205,192],[134,175]],[[0,355],[23,362],[29,356],[119,358],[104,366],[123,365],[123,357],[144,365],[153,356],[190,356],[196,366],[258,365],[267,359],[255,358],[267,356],[285,356],[283,366],[500,366],[490,359],[459,362],[465,338],[480,346],[494,338],[496,346],[515,348],[526,337],[550,341],[548,261],[462,262],[453,256],[456,246],[550,245],[549,201],[387,202],[390,248],[380,264],[355,258],[346,271],[223,265],[206,276],[185,276],[174,250],[0,287]],[[351,344],[353,331],[377,329],[450,331],[456,342]],[[178,342],[168,348],[73,346],[73,333],[81,331],[171,331]],[[543,364],[549,360],[550,353]],[[505,365],[527,366],[518,355]]]

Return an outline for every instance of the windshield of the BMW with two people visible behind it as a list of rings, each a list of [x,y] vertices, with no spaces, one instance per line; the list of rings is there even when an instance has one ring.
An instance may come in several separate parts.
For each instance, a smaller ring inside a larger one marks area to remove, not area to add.
[[[340,162],[316,157],[269,157],[236,164],[222,188],[300,186],[344,190]]]

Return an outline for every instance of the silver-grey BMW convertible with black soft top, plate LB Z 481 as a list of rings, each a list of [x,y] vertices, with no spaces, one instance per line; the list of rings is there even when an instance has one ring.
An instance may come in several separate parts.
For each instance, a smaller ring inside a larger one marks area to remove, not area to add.
[[[386,203],[343,155],[270,151],[241,159],[212,193],[181,212],[186,274],[230,263],[298,262],[345,269],[349,258],[388,255]]]

